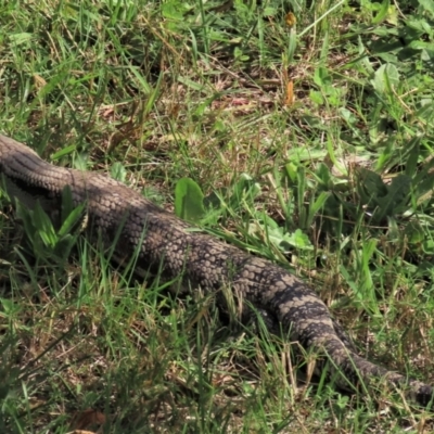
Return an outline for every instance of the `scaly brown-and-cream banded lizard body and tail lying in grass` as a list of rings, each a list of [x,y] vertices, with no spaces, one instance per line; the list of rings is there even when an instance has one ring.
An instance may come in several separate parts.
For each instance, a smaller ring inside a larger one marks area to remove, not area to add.
[[[120,182],[93,173],[52,166],[29,148],[0,136],[0,174],[10,195],[28,206],[39,200],[59,209],[62,192],[71,188],[75,205],[86,203],[92,228],[113,240],[122,227],[117,253],[139,252],[138,265],[163,267],[168,278],[183,276],[208,292],[229,286],[242,303],[265,309],[305,348],[324,353],[330,374],[347,388],[383,379],[400,386],[421,405],[434,396],[430,385],[381,368],[358,356],[327,306],[288,270],[197,231]],[[140,244],[140,245],[139,245]],[[322,363],[320,363],[322,367]]]

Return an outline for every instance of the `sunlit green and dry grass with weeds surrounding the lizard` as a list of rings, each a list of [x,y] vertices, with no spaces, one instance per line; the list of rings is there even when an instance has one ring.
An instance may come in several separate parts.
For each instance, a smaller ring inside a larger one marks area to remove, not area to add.
[[[370,360],[433,383],[433,21],[410,0],[0,0],[1,129],[168,209],[192,179],[207,230],[303,277]],[[399,394],[303,379],[312,355],[213,296],[74,233],[43,242],[1,200],[1,432],[432,429]]]

